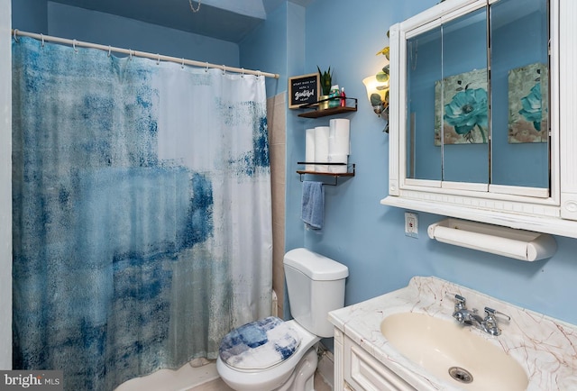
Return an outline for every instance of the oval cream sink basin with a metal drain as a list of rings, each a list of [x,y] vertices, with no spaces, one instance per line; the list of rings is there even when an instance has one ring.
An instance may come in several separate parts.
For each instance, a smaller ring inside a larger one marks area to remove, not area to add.
[[[403,356],[454,386],[480,391],[527,388],[525,370],[475,335],[475,329],[427,314],[401,313],[385,318],[380,332]]]

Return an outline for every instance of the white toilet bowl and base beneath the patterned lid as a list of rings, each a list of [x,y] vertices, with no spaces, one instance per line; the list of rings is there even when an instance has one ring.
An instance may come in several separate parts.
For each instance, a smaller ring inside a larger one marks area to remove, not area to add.
[[[320,338],[307,332],[294,320],[286,322],[300,337],[298,349],[284,361],[264,369],[239,369],[224,363],[218,357],[216,370],[224,383],[237,391],[303,391],[312,390],[303,383],[294,382],[294,377],[307,380],[314,376],[316,370],[316,344]],[[300,367],[300,368],[298,368]],[[289,381],[292,380],[292,381]]]

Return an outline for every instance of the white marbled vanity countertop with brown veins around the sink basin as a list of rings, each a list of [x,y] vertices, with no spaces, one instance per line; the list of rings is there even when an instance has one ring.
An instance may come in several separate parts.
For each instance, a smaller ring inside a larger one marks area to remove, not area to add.
[[[508,304],[437,277],[413,277],[408,286],[329,313],[329,320],[350,339],[419,390],[458,390],[458,385],[428,374],[403,357],[380,332],[390,314],[416,312],[454,321],[454,295],[468,308],[489,306],[511,316],[499,322],[498,337],[470,327],[471,332],[505,351],[525,369],[527,390],[577,390],[577,326]]]

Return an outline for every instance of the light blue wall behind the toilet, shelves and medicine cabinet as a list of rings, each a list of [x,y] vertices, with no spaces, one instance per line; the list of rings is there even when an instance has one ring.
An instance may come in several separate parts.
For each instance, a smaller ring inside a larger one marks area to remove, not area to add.
[[[316,65],[330,65],[336,83],[345,87],[347,95],[359,98],[358,112],[345,116],[351,119],[350,161],[356,163],[357,173],[339,186],[325,186],[323,232],[305,232],[302,224],[287,223],[287,236],[302,236],[307,248],[349,267],[347,305],[406,286],[410,277],[433,275],[577,323],[573,303],[577,240],[556,237],[558,250],[553,258],[523,262],[429,240],[426,227],[443,218],[433,214],[419,213],[419,237],[409,238],[403,232],[404,211],[379,204],[387,195],[389,136],[380,132],[382,123],[372,113],[362,78],[381,67],[382,58],[375,53],[388,43],[389,26],[435,3],[316,0],[307,6],[305,72],[313,72]],[[296,115],[289,113],[289,117]],[[289,154],[303,159],[304,129],[327,124],[329,118],[307,120],[300,129],[288,129]],[[287,177],[297,176],[295,163],[288,162]],[[287,190],[294,195],[287,200],[288,211],[298,208],[297,193]],[[287,214],[287,221],[294,219],[298,217]]]

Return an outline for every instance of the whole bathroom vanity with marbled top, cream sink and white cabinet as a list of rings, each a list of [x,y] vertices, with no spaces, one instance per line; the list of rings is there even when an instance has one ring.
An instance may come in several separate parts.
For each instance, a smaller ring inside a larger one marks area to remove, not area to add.
[[[466,297],[470,307],[499,308],[511,321],[499,323],[499,337],[463,329],[452,317],[448,292]],[[426,316],[441,328],[423,322]],[[413,277],[406,287],[328,317],[334,325],[334,391],[577,390],[577,326],[441,278]],[[392,317],[402,321],[391,327]],[[473,383],[463,384],[466,377],[450,371],[453,366],[471,370]]]

